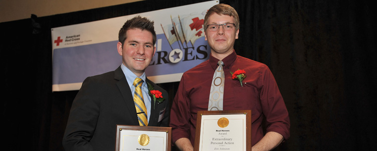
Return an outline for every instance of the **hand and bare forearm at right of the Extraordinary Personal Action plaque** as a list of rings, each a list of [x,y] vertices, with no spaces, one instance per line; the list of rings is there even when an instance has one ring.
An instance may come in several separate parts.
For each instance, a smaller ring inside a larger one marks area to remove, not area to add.
[[[261,141],[251,147],[252,151],[270,151],[283,141],[283,136],[276,132],[268,132]],[[178,142],[178,141],[177,141]]]

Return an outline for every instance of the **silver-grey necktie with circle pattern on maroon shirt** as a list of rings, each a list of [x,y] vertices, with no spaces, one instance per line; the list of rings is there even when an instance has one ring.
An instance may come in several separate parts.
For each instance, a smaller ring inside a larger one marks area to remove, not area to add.
[[[218,67],[215,70],[214,78],[211,84],[210,101],[208,102],[208,110],[222,110],[222,99],[224,96],[224,63],[219,60]]]

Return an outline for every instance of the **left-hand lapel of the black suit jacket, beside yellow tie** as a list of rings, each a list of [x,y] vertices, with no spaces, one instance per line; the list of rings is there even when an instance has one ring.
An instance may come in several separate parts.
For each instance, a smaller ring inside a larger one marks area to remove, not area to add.
[[[114,79],[118,80],[116,85],[119,88],[120,93],[123,96],[123,101],[126,103],[129,115],[134,121],[134,125],[139,125],[139,121],[136,116],[135,104],[133,101],[133,95],[131,89],[128,87],[127,79],[120,66],[114,71]],[[126,116],[126,115],[125,115]]]

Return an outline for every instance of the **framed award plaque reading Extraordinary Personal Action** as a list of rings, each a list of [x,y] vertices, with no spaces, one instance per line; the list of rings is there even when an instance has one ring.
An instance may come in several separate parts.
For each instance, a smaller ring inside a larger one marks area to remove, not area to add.
[[[198,111],[194,151],[251,151],[251,110]]]

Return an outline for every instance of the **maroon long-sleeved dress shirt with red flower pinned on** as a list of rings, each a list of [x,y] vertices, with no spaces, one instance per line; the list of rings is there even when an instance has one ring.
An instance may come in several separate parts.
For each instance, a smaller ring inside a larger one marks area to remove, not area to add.
[[[224,62],[223,110],[252,110],[252,146],[264,136],[263,118],[266,118],[267,132],[289,138],[289,116],[275,79],[266,64],[233,53],[222,59]],[[208,110],[212,78],[218,59],[210,59],[186,71],[179,83],[178,91],[171,106],[170,127],[173,143],[180,138],[195,141],[197,112]],[[246,78],[232,80],[230,72],[243,69]]]

